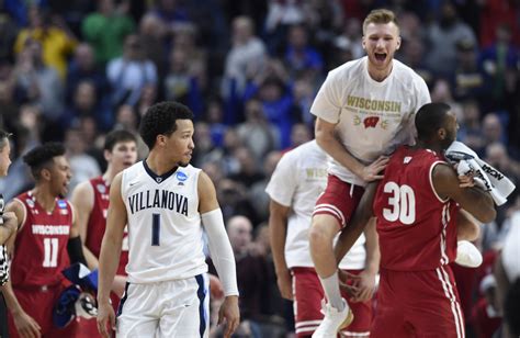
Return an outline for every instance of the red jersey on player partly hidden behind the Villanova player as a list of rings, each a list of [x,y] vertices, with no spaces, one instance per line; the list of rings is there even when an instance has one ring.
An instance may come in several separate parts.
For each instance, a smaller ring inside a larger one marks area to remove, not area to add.
[[[90,180],[94,190],[94,205],[90,213],[86,246],[95,257],[100,257],[101,241],[103,240],[104,229],[106,226],[106,213],[109,211],[110,185],[106,184],[103,177],[97,177]],[[128,239],[125,230],[123,237],[123,248],[121,251],[120,266],[117,274],[126,274],[125,267],[128,263]]]

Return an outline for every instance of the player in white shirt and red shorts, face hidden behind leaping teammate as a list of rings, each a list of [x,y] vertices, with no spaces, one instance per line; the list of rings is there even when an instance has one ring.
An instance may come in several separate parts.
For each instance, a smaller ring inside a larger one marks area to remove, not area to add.
[[[298,338],[310,337],[324,317],[324,291],[310,258],[308,230],[316,200],[326,184],[327,155],[310,140],[282,157],[265,189],[271,198],[269,228],[278,285],[283,297],[294,301]],[[375,227],[366,227],[365,233],[366,241],[362,235],[339,268],[370,281],[377,272],[380,255]],[[369,335],[373,284],[366,284],[359,285],[359,297],[343,294],[352,302],[354,315],[353,323],[341,331],[343,337]]]

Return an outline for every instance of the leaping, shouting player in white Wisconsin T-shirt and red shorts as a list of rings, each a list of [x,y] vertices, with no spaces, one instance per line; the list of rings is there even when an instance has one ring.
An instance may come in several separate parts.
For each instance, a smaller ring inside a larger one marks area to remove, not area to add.
[[[383,178],[381,171],[388,162],[384,155],[414,143],[415,114],[430,102],[425,80],[394,59],[400,36],[392,11],[369,13],[362,43],[366,56],[332,69],[310,108],[317,117],[316,140],[330,156],[327,189],[316,202],[309,234],[310,254],[328,301],[313,337],[331,337],[349,324],[332,240],[348,225],[363,187]],[[457,230],[459,239],[466,239]],[[473,229],[464,230],[474,237]]]

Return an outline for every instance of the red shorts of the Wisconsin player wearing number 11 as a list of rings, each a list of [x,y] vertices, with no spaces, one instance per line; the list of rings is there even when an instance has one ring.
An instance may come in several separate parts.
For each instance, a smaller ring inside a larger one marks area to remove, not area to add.
[[[48,289],[15,289],[14,294],[23,311],[33,317],[41,327],[42,337],[77,337],[77,323],[72,320],[65,328],[57,328],[53,323],[53,309],[65,285],[58,284]],[[16,327],[9,313],[9,337],[18,338]]]

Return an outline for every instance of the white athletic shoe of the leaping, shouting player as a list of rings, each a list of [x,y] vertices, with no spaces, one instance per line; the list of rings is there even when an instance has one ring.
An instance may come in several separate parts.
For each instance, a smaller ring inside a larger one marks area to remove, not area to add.
[[[313,338],[336,338],[338,333],[354,320],[354,315],[344,298],[343,309],[338,311],[330,304],[323,304],[321,313],[325,315],[321,324],[314,331]]]

